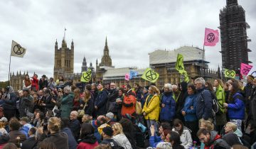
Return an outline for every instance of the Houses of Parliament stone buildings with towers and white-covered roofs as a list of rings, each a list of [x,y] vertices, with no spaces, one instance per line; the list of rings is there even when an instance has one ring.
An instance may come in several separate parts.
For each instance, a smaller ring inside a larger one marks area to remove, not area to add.
[[[72,80],[73,84],[80,82],[82,72],[87,71],[89,67],[92,70],[91,82],[115,82],[118,86],[122,84],[134,84],[139,83],[142,86],[149,85],[150,82],[142,79],[144,69],[137,69],[137,67],[122,67],[114,68],[112,65],[112,58],[110,57],[110,49],[107,45],[107,37],[105,39],[105,47],[103,49],[103,55],[101,61],[96,60],[96,67],[92,67],[92,62],[87,67],[86,58],[83,57],[81,72],[74,73],[74,53],[75,43],[71,42],[70,48],[63,38],[61,46],[59,47],[58,41],[55,41],[55,57],[53,68],[53,79],[58,79],[59,76],[63,76],[65,80]],[[208,69],[208,63],[203,60],[203,50],[193,46],[183,46],[174,50],[155,50],[149,53],[149,67],[154,68],[159,73],[159,79],[156,85],[163,87],[164,83],[171,82],[171,84],[178,84],[181,81],[181,75],[175,70],[176,55],[180,53],[184,55],[184,66],[188,72],[189,77],[196,77],[202,74],[206,79],[213,79],[220,77],[220,68],[218,70]],[[202,70],[203,69],[203,70]],[[137,77],[124,80],[124,75],[129,73],[130,70],[138,72]],[[28,72],[26,72],[28,73]],[[15,90],[22,89],[22,81],[25,77],[25,72],[21,74],[21,71],[14,75],[14,72],[10,74],[10,84]],[[41,75],[38,75],[40,77]],[[48,79],[52,76],[48,76]],[[40,79],[40,78],[38,78]]]

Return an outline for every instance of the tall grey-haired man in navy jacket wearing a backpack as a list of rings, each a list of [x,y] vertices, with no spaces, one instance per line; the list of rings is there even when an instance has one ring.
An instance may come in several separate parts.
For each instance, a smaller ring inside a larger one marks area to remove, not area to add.
[[[214,121],[213,115],[213,96],[210,91],[206,89],[206,81],[203,77],[195,79],[196,94],[196,116],[200,120]]]

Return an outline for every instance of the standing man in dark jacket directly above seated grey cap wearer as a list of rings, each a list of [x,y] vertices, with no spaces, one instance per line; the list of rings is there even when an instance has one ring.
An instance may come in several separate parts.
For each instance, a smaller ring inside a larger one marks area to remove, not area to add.
[[[107,111],[112,112],[114,110],[114,104],[118,96],[118,90],[114,83],[110,83],[110,93],[107,95]]]

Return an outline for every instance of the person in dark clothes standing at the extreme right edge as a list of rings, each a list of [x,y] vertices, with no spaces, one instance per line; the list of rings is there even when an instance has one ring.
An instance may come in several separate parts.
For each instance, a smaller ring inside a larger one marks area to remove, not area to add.
[[[251,109],[251,96],[252,96],[252,82],[253,79],[252,75],[248,75],[246,77],[247,84],[245,86],[245,109],[247,114],[247,123],[252,119],[252,109]]]

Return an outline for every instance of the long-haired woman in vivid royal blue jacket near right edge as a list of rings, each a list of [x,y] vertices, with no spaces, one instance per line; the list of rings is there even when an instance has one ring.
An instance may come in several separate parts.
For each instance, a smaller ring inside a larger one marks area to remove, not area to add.
[[[223,106],[228,108],[228,117],[230,121],[238,126],[242,131],[242,120],[245,118],[245,102],[244,97],[239,92],[238,82],[230,82],[228,86],[230,94],[228,96],[228,103],[224,103]]]

